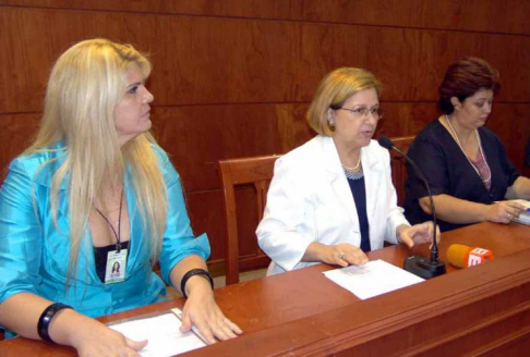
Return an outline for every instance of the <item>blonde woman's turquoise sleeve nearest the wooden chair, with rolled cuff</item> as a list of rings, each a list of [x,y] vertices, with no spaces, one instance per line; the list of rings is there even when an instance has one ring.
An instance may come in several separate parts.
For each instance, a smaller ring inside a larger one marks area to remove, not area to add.
[[[160,272],[170,284],[169,273],[183,258],[197,255],[204,260],[209,257],[209,243],[206,234],[193,235],[185,209],[180,177],[166,153],[159,151],[162,172],[168,189],[168,216],[160,254]]]

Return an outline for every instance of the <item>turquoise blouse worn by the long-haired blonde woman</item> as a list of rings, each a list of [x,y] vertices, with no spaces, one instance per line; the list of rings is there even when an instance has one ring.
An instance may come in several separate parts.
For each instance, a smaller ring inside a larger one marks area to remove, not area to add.
[[[135,210],[130,172],[124,180],[131,225],[125,281],[101,283],[87,229],[80,248],[77,275],[71,280],[72,286],[65,288],[70,250],[65,182],[58,195],[58,227],[52,221],[49,195],[51,177],[62,163],[65,150],[62,144],[55,149],[15,159],[0,189],[0,304],[25,292],[98,317],[160,300],[165,284],[149,264],[149,238]],[[209,244],[206,234],[194,237],[179,175],[167,155],[156,146],[153,149],[160,158],[168,189],[168,218],[159,261],[161,275],[169,282],[169,272],[182,258],[198,255],[206,260]],[[48,163],[43,165],[45,162]]]

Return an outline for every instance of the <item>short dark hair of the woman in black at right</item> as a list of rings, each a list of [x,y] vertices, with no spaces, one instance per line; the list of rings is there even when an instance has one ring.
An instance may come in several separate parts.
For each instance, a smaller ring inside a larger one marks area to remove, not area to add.
[[[445,72],[444,82],[438,88],[438,108],[450,114],[455,110],[450,98],[457,97],[463,101],[481,89],[497,93],[499,87],[497,70],[482,59],[466,57],[449,65]]]

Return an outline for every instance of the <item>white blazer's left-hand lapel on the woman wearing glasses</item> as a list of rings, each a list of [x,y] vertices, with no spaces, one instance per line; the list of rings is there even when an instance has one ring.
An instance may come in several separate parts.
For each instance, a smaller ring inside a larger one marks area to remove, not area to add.
[[[351,220],[353,231],[359,232],[359,217],[357,214],[356,204],[353,196],[351,195],[350,185],[342,171],[340,159],[335,147],[335,143],[330,137],[323,137],[323,149],[325,158],[326,172],[329,178],[329,183],[333,187],[333,192],[349,219]]]

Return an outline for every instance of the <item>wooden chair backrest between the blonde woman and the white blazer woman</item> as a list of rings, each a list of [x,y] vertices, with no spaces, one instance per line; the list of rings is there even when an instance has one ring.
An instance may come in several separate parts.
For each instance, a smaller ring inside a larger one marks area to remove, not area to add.
[[[267,190],[274,175],[274,163],[279,157],[272,155],[219,161],[227,222],[227,249],[225,255],[227,285],[239,283],[240,259],[234,187],[238,185],[252,185],[254,187],[256,213],[260,222],[267,202]],[[256,256],[265,262],[265,266],[268,263],[268,257],[260,248],[257,248]]]

